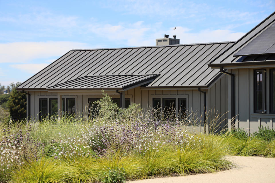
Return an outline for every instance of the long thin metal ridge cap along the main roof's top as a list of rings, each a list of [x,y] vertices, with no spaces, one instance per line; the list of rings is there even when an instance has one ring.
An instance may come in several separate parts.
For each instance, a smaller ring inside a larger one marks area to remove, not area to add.
[[[87,49],[71,49],[70,51],[83,51],[83,50],[105,50],[105,49],[129,49],[129,48],[151,48],[151,47],[173,47],[173,46],[188,46],[188,45],[207,45],[207,44],[222,44],[222,43],[235,43],[236,41],[220,41],[220,42],[206,42],[206,43],[187,43],[177,45],[162,45],[162,46],[135,46],[135,47],[117,47],[117,48],[87,48]]]

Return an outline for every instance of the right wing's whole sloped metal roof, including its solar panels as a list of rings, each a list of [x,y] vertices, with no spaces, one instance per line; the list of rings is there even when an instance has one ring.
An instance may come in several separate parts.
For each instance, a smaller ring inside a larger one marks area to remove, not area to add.
[[[268,41],[268,43],[264,43],[264,41],[269,39],[267,34],[271,34],[271,36],[275,35],[274,23],[275,12],[237,40],[230,48],[222,52],[218,57],[215,57],[215,59],[209,63],[209,66],[216,66],[221,63],[239,62],[245,58],[243,55],[275,53],[274,37],[272,37],[271,41]]]

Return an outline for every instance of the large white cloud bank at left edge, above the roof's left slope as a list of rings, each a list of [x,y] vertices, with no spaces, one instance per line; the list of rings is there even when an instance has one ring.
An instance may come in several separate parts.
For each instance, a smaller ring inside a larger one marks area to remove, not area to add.
[[[0,43],[0,63],[24,63],[37,58],[60,56],[75,48],[89,48],[89,45],[71,41]]]

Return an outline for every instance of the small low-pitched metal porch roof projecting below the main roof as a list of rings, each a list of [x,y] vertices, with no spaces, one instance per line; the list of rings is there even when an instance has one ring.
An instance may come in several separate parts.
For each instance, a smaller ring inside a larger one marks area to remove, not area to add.
[[[48,87],[48,89],[129,89],[152,82],[158,75],[92,75],[84,76]]]

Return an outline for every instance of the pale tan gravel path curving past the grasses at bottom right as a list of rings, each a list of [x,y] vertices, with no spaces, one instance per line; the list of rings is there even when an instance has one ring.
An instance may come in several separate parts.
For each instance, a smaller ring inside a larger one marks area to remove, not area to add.
[[[136,180],[129,183],[275,183],[275,158],[229,156],[237,167],[221,172]]]

